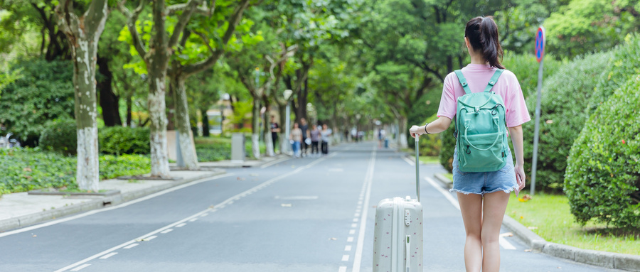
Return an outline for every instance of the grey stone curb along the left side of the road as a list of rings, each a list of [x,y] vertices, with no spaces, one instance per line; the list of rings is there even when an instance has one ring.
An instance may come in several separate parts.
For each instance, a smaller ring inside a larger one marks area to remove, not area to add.
[[[55,210],[47,210],[44,212],[26,214],[21,217],[14,217],[14,218],[0,220],[0,232],[6,232],[11,229],[28,227],[33,224],[42,223],[42,222],[45,222],[51,219],[56,219],[59,217],[65,217],[71,214],[76,214],[78,212],[87,212],[90,210],[97,210],[110,205],[118,205],[123,202],[135,200],[139,197],[144,197],[146,195],[151,195],[153,193],[169,189],[171,187],[176,187],[178,185],[183,185],[185,183],[191,183],[194,180],[201,180],[203,178],[213,178],[217,175],[223,175],[225,173],[226,173],[225,170],[220,170],[217,173],[213,173],[213,174],[197,175],[196,177],[186,178],[186,179],[181,178],[179,180],[176,180],[174,183],[157,185],[154,187],[149,187],[142,190],[135,190],[132,192],[125,192],[125,193],[110,196],[110,197],[100,197],[99,199],[89,200],[87,202],[82,202],[76,205],[61,207]]]

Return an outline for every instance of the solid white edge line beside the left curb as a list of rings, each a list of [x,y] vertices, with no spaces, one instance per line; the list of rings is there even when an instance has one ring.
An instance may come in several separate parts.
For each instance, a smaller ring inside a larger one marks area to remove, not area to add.
[[[85,213],[82,213],[82,214],[76,214],[76,215],[73,215],[73,216],[70,216],[70,217],[65,217],[63,219],[52,220],[52,221],[49,221],[49,222],[46,222],[46,223],[43,223],[43,224],[37,224],[37,225],[33,225],[31,227],[25,227],[25,228],[22,228],[22,229],[16,229],[16,230],[13,230],[11,232],[4,232],[4,233],[0,234],[0,237],[9,236],[11,234],[18,234],[18,233],[21,233],[21,232],[28,232],[28,231],[31,231],[33,229],[40,229],[41,227],[52,226],[54,224],[59,224],[59,223],[62,223],[62,222],[71,221],[73,219],[86,217],[86,216],[89,216],[91,214],[97,214],[99,212],[107,212],[107,211],[110,211],[110,210],[115,210],[115,209],[119,209],[119,208],[122,208],[122,207],[127,207],[129,205],[136,204],[137,202],[142,202],[144,200],[149,200],[151,198],[157,197],[159,195],[164,195],[164,194],[166,194],[168,192],[173,192],[175,190],[180,190],[180,189],[182,189],[184,187],[189,187],[191,185],[196,185],[198,183],[203,183],[203,182],[208,181],[208,180],[217,180],[218,178],[226,178],[226,177],[229,177],[231,175],[233,175],[233,174],[217,175],[217,176],[215,176],[213,178],[203,178],[203,179],[200,179],[200,180],[193,180],[191,183],[185,183],[183,185],[178,185],[176,187],[171,187],[169,189],[166,189],[166,190],[163,190],[163,191],[160,191],[160,192],[156,192],[156,193],[151,194],[151,195],[147,195],[146,197],[140,197],[137,200],[131,200],[129,202],[124,202],[124,203],[122,203],[120,205],[115,205],[113,207],[102,208],[100,210],[92,210],[92,211],[85,212]]]

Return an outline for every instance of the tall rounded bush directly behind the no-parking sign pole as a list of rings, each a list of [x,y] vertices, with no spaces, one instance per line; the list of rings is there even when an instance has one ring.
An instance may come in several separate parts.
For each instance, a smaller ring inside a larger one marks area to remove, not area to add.
[[[567,156],[575,138],[592,113],[585,107],[613,57],[612,53],[597,53],[576,58],[545,79],[540,107],[540,138],[536,188],[561,192]],[[532,120],[535,120],[537,98],[526,99]],[[531,173],[535,121],[523,124],[525,173]]]

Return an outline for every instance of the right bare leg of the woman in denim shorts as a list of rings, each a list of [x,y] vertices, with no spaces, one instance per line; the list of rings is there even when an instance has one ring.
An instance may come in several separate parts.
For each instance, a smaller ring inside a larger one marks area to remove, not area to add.
[[[484,219],[482,222],[481,241],[483,249],[482,271],[500,271],[500,227],[504,211],[509,202],[509,194],[491,192],[484,195]]]

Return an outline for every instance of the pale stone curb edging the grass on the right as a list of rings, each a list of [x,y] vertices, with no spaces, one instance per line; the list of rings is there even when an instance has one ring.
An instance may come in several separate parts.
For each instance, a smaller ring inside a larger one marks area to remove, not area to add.
[[[443,186],[451,188],[452,181],[441,174],[434,174],[439,183]],[[607,251],[596,251],[590,249],[579,249],[574,246],[566,246],[564,244],[555,244],[543,239],[520,222],[504,215],[502,224],[507,229],[511,229],[514,235],[522,239],[531,249],[542,252],[550,256],[562,259],[569,259],[577,263],[586,263],[592,266],[600,266],[604,268],[614,268],[624,271],[640,272],[640,256],[631,254],[619,254]]]

